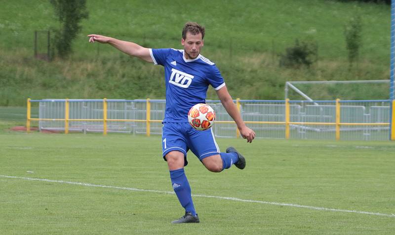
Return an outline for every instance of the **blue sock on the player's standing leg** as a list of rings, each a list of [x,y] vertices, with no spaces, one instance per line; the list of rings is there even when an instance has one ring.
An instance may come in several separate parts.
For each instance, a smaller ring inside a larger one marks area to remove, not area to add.
[[[189,211],[194,216],[196,216],[196,210],[191,196],[191,187],[189,186],[184,168],[171,170],[170,179],[173,190],[176,193],[181,205],[185,208],[185,211]]]

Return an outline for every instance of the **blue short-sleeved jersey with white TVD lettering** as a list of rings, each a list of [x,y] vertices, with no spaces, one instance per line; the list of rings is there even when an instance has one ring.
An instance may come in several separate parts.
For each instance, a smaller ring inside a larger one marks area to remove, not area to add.
[[[185,59],[184,50],[150,49],[156,65],[164,67],[166,111],[163,122],[188,122],[188,111],[198,103],[205,103],[208,85],[219,90],[225,86],[217,66],[198,55]]]

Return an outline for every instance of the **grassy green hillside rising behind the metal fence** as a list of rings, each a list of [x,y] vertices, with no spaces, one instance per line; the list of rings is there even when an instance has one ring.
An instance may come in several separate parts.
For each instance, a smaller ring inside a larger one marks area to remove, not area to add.
[[[332,0],[87,0],[89,18],[74,41],[74,54],[48,63],[33,58],[34,31],[59,25],[48,0],[3,1],[0,8],[0,106],[40,98],[164,98],[163,72],[109,45],[89,44],[104,34],[146,47],[181,48],[186,21],[206,27],[202,54],[215,62],[234,98],[283,99],[289,80],[388,79],[390,7]],[[362,17],[358,64],[347,60],[345,24]],[[316,41],[311,68],[279,67],[295,40]],[[388,90],[348,88],[314,98],[386,99]],[[342,89],[342,88],[339,88]],[[208,98],[216,98],[213,90]],[[295,97],[296,98],[296,97]],[[300,98],[300,97],[299,97]]]

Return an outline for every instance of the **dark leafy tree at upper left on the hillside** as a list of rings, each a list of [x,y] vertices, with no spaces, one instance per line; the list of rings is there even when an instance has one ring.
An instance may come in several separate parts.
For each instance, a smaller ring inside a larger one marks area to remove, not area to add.
[[[55,48],[61,58],[72,52],[72,41],[81,31],[82,19],[88,18],[86,0],[49,0],[55,9],[60,29],[55,30]]]

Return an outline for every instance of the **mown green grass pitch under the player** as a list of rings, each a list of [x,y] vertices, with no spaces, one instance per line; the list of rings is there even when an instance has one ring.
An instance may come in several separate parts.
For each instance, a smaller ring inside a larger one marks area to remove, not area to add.
[[[193,194],[392,214],[395,145],[217,139],[247,167],[212,173],[189,155]],[[365,147],[365,148],[361,148]],[[160,138],[0,132],[0,175],[171,192]],[[395,217],[0,177],[1,234],[392,234]]]

